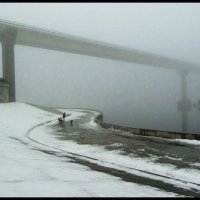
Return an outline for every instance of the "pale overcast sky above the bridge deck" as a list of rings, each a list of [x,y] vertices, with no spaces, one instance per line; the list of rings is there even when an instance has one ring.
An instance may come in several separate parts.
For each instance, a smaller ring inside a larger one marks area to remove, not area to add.
[[[1,3],[0,18],[200,63],[199,3]]]

